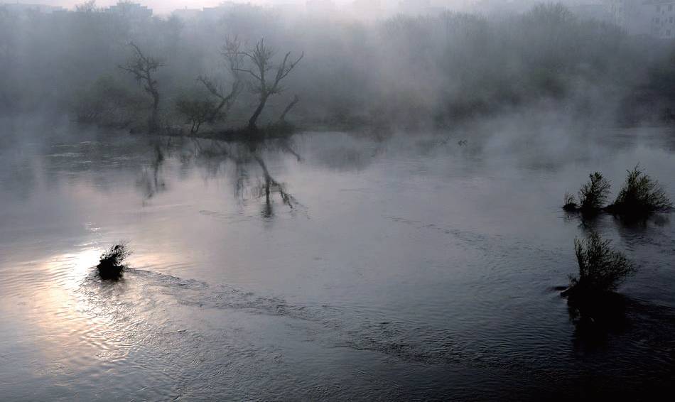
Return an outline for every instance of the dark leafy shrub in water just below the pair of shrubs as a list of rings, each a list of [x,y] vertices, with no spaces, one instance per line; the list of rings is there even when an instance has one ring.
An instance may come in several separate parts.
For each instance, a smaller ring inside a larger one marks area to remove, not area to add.
[[[630,261],[610,247],[610,240],[603,240],[597,233],[585,240],[575,239],[574,249],[579,276],[570,277],[570,287],[565,292],[570,296],[611,292],[635,272]]]

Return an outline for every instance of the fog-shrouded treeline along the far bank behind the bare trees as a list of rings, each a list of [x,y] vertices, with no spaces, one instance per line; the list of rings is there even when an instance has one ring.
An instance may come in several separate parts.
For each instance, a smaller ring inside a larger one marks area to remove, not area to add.
[[[305,54],[276,88],[251,74],[257,66],[247,54],[261,38],[266,50],[279,50],[267,66],[273,80],[286,52],[285,68]],[[232,40],[242,60],[227,50]],[[161,65],[153,74],[158,102],[129,74],[138,55],[131,43]],[[156,113],[161,124],[189,121],[188,131],[250,126],[254,114],[259,124],[288,116],[306,126],[443,127],[541,104],[637,123],[671,114],[672,50],[556,4],[499,21],[443,13],[374,23],[281,18],[249,5],[190,21],[94,4],[20,18],[0,8],[0,109],[58,109],[113,125]]]

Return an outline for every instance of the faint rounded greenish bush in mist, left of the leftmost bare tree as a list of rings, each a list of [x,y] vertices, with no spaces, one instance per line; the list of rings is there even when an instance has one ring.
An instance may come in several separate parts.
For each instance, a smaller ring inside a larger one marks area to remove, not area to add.
[[[139,119],[144,96],[104,75],[77,94],[73,103],[75,119],[81,123],[123,127]]]

